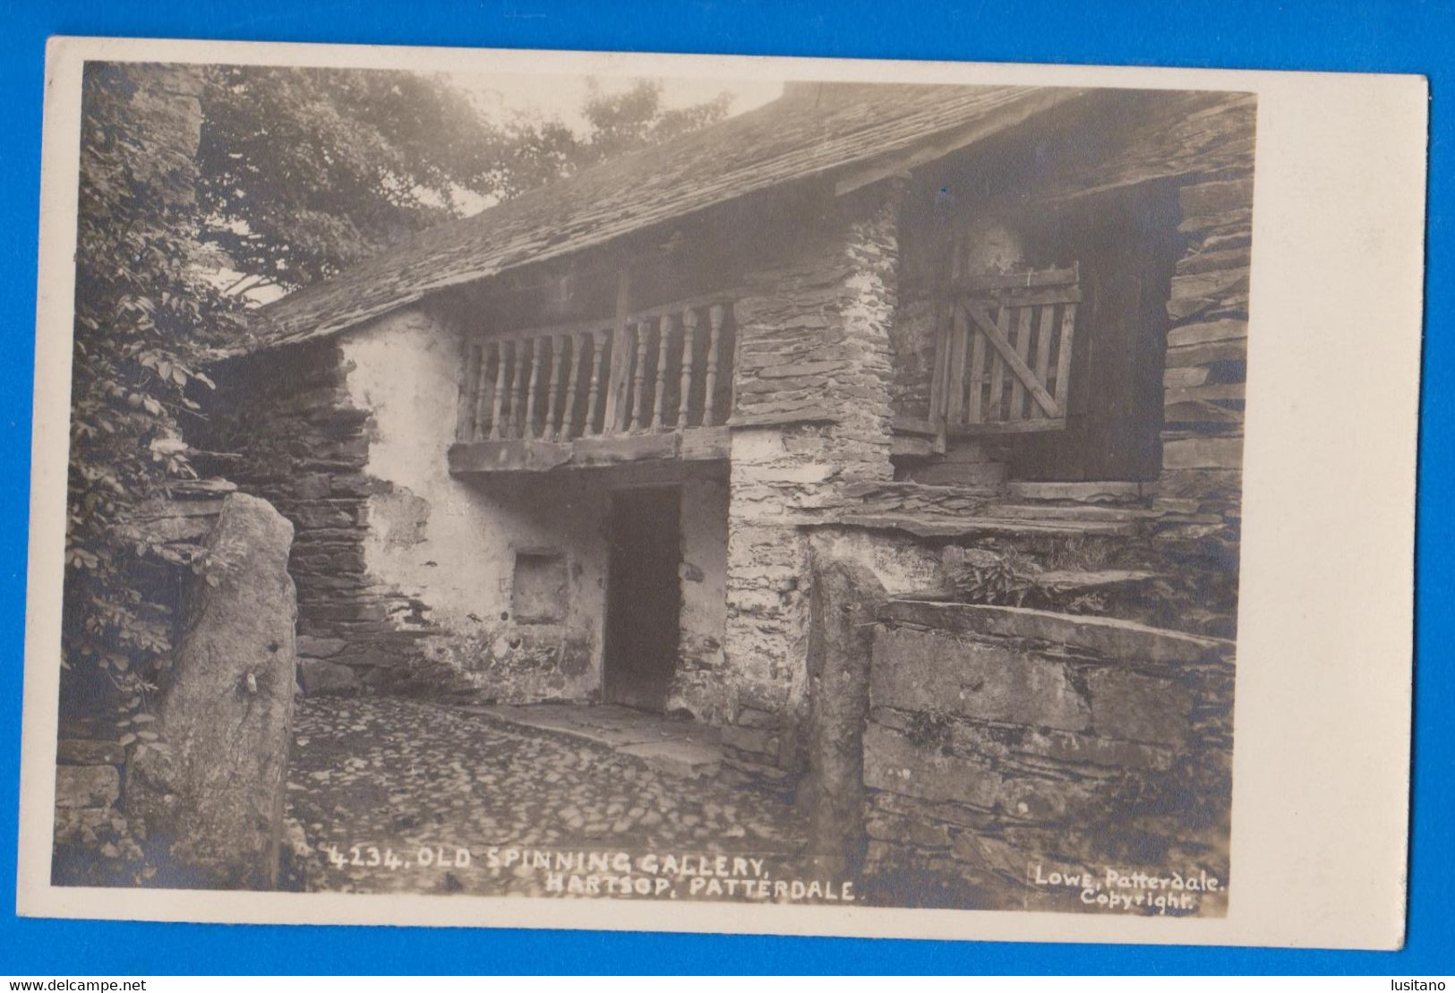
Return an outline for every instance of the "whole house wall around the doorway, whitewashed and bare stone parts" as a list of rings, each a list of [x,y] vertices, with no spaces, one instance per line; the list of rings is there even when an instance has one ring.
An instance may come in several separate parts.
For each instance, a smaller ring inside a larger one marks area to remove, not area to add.
[[[611,494],[681,485],[681,655],[671,708],[725,712],[728,488],[682,464],[451,476],[457,329],[403,310],[228,364],[202,447],[297,527],[307,693],[591,700],[601,687]],[[554,558],[559,612],[517,616],[519,558]]]

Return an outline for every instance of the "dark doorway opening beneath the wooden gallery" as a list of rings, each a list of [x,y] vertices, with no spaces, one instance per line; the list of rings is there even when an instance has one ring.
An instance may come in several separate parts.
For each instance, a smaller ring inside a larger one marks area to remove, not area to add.
[[[662,711],[677,671],[682,561],[677,486],[611,494],[601,696]]]

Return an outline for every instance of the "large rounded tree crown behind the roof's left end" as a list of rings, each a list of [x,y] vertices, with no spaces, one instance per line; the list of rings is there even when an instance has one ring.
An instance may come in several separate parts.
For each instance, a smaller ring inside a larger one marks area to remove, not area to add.
[[[214,66],[202,92],[205,237],[247,285],[300,287],[457,211],[501,134],[413,73]]]

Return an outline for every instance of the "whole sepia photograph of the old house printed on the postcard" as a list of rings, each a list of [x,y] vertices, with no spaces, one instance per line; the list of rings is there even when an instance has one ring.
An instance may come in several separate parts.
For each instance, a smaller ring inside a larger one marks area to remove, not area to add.
[[[1257,87],[269,51],[74,63],[47,891],[1228,917]]]

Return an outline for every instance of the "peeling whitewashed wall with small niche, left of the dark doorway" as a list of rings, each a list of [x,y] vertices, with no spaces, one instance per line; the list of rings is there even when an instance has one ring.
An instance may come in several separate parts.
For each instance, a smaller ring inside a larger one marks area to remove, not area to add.
[[[418,604],[431,629],[402,689],[457,681],[486,699],[591,697],[599,687],[605,601],[605,494],[597,479],[525,473],[451,476],[463,349],[426,309],[400,312],[342,339],[351,403],[370,412],[365,574]],[[522,555],[557,556],[563,603],[517,616]],[[415,619],[396,614],[407,632]],[[463,673],[464,680],[455,674]],[[380,680],[394,683],[393,674]]]

